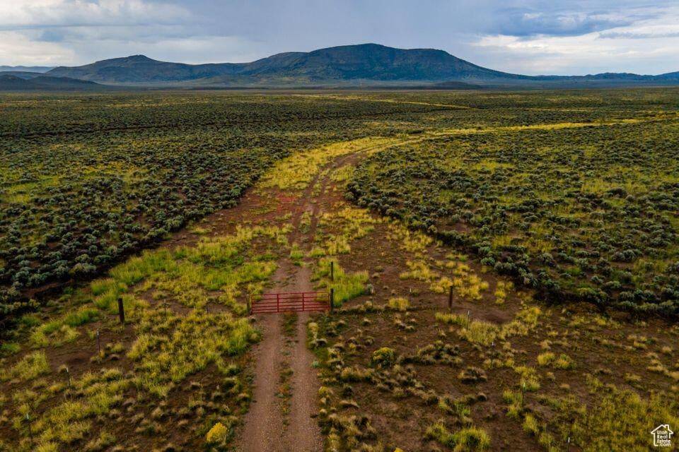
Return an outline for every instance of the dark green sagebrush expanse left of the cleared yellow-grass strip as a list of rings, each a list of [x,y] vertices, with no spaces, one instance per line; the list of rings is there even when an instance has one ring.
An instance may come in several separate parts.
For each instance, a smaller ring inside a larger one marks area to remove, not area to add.
[[[291,151],[407,133],[436,109],[225,93],[5,95],[0,105],[4,312],[234,206]]]

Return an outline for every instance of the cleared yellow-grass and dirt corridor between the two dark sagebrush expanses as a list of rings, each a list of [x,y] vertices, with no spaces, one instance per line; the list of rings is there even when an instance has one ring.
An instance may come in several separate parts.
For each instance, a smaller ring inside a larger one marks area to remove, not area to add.
[[[473,107],[432,96],[364,101]],[[679,428],[676,323],[547,302],[347,184],[391,150],[661,120],[425,127],[273,162],[238,205],[23,315],[0,451],[653,450],[652,429]],[[248,315],[250,293],[330,288],[332,314]]]

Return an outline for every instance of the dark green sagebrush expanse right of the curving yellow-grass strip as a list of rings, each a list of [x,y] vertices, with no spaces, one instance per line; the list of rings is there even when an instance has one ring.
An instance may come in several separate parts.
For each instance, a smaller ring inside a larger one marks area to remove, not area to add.
[[[615,116],[460,129],[373,155],[349,187],[552,301],[674,316],[679,121]]]

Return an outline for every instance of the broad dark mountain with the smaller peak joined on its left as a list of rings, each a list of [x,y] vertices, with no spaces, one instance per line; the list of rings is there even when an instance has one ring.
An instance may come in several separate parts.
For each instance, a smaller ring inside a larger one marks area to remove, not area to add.
[[[148,84],[195,81],[195,85],[326,85],[422,81],[486,81],[525,76],[493,71],[435,49],[395,49],[379,44],[276,54],[251,63],[181,64],[143,55],[58,67],[50,76],[98,83]]]

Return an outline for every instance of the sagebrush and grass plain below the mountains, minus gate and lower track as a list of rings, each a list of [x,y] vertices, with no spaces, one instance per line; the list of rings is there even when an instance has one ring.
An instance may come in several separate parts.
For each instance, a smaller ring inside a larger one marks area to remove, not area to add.
[[[0,95],[0,451],[233,450],[245,299],[291,271],[337,309],[280,319],[286,432],[306,341],[328,452],[649,450],[679,426],[678,101]]]

